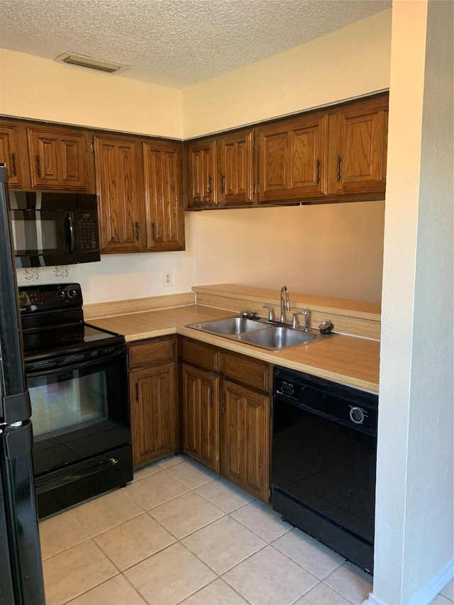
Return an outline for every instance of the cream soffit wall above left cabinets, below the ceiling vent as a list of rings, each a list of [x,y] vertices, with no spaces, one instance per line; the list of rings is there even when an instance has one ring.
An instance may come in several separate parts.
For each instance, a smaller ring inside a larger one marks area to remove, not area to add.
[[[180,90],[5,49],[0,113],[173,138],[183,133]]]

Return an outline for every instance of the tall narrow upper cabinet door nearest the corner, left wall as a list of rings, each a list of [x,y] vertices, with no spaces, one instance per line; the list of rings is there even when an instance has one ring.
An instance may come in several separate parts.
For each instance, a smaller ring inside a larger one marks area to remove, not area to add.
[[[143,143],[147,250],[184,250],[182,144]]]

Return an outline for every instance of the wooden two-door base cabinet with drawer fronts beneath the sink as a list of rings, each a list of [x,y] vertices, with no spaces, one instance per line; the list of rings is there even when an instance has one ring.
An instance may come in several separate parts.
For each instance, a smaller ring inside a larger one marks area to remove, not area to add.
[[[184,452],[268,502],[272,367],[189,338],[180,360]]]

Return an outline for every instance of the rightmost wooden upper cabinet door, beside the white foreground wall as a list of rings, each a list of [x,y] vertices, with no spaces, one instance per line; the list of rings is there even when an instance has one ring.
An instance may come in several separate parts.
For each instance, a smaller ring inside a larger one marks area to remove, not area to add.
[[[338,113],[337,194],[384,194],[387,130],[387,98],[362,101]]]

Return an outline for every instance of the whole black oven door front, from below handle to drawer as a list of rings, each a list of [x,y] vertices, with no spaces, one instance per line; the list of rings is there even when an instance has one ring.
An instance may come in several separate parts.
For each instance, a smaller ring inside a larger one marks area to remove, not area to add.
[[[27,387],[35,476],[131,443],[126,349],[92,364],[28,374]]]

